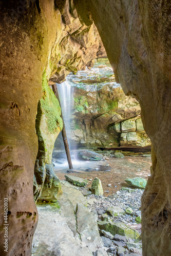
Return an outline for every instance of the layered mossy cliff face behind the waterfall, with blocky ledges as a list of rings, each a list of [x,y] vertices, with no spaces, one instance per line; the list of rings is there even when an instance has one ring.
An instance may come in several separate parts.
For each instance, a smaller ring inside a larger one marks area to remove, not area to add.
[[[69,74],[66,80],[60,87],[70,90],[70,98],[65,95],[64,100],[65,106],[71,104],[71,115],[68,109],[64,109],[63,115],[71,147],[150,145],[141,122],[140,105],[135,98],[125,96],[108,59],[99,58],[91,70]],[[62,93],[66,94],[66,90]],[[57,148],[59,139],[55,143]]]

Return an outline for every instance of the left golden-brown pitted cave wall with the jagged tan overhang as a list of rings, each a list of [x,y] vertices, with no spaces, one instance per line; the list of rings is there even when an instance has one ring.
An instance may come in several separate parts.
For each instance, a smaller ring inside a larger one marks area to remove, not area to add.
[[[98,52],[104,52],[97,29],[81,24],[72,7],[70,1],[0,2],[0,254],[5,249],[4,198],[8,198],[8,255],[31,254],[38,219],[33,199],[35,118],[43,71],[53,78],[49,84],[60,82],[76,71],[74,67],[91,67]]]

